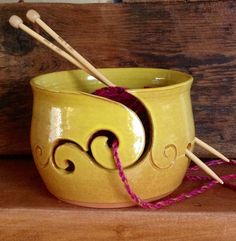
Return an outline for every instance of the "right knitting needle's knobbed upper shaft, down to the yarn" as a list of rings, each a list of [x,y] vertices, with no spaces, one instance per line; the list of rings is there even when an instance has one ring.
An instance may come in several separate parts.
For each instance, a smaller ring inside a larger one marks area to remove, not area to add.
[[[63,38],[61,38],[54,30],[52,30],[44,21],[41,20],[40,15],[35,10],[31,9],[26,14],[27,18],[37,23],[45,32],[54,38],[63,48],[65,48],[74,58],[76,58],[93,76],[97,77],[101,82],[107,86],[115,86],[111,83],[101,72],[99,72],[92,64],[90,64],[83,56],[81,56],[74,48],[72,48]]]

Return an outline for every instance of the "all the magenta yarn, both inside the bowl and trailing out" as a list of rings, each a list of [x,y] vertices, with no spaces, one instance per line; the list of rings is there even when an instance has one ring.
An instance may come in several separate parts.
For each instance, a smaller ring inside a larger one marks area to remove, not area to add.
[[[119,103],[124,104],[128,108],[132,109],[139,116],[140,120],[143,123],[143,126],[145,127],[146,143],[148,143],[149,137],[150,137],[150,123],[149,123],[147,110],[144,107],[144,105],[141,103],[140,100],[138,100],[135,96],[128,93],[126,91],[126,89],[123,87],[105,87],[105,88],[96,90],[93,94],[117,101]],[[116,167],[119,172],[120,179],[123,182],[124,187],[125,187],[128,195],[130,196],[130,198],[133,200],[133,202],[142,208],[161,209],[161,208],[170,206],[174,203],[181,202],[186,199],[195,197],[199,194],[202,194],[202,193],[206,192],[207,190],[213,188],[216,184],[218,184],[217,181],[211,179],[210,177],[189,174],[190,172],[199,170],[199,167],[197,165],[195,165],[188,169],[185,179],[188,181],[192,181],[192,182],[204,181],[205,183],[202,186],[195,188],[187,193],[181,193],[176,197],[166,198],[166,199],[163,199],[163,200],[160,200],[157,202],[144,201],[132,190],[131,186],[129,185],[128,179],[124,172],[124,168],[123,168],[120,158],[119,158],[118,147],[119,147],[118,140],[113,137],[111,149],[112,149],[112,154],[113,154],[113,158],[114,158]],[[223,162],[221,160],[212,160],[212,161],[207,162],[206,164],[208,166],[215,166],[215,165],[221,165],[223,163],[225,163],[225,162]],[[231,161],[230,164],[236,165],[236,161],[233,160],[233,161]],[[224,175],[221,177],[221,179],[224,181],[224,184],[223,184],[224,187],[230,188],[232,190],[236,190],[236,185],[228,183],[229,180],[236,179],[236,174]]]

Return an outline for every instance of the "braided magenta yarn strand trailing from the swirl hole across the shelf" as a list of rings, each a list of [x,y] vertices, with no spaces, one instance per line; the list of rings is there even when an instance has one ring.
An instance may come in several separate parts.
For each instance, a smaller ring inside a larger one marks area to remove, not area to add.
[[[207,190],[213,188],[216,184],[218,184],[215,180],[212,180],[211,178],[206,177],[206,176],[193,176],[193,175],[187,174],[185,178],[189,181],[208,181],[208,182],[203,184],[202,186],[200,186],[198,188],[195,188],[195,189],[191,190],[190,192],[182,193],[182,194],[180,194],[176,197],[173,197],[173,198],[166,198],[164,200],[160,200],[160,201],[157,201],[157,202],[154,202],[154,203],[144,201],[132,190],[131,186],[129,185],[128,179],[127,179],[127,177],[125,175],[125,172],[124,172],[124,168],[123,168],[123,166],[121,164],[121,161],[120,161],[120,158],[119,158],[118,146],[119,146],[118,141],[114,140],[113,143],[112,143],[112,153],[113,153],[113,157],[114,157],[114,160],[115,160],[118,172],[119,172],[119,176],[121,178],[121,181],[124,184],[124,187],[125,187],[127,193],[129,194],[130,198],[136,204],[141,206],[142,208],[161,209],[161,208],[170,206],[174,203],[181,202],[181,201],[184,201],[186,199],[195,197],[199,194],[202,194],[202,193],[206,192]],[[220,160],[212,160],[212,161],[207,162],[206,164],[208,166],[215,166],[215,165],[221,165],[223,163],[224,162],[220,161]],[[236,161],[233,160],[231,162],[231,164],[235,165]],[[199,170],[199,167],[193,166],[193,167],[189,168],[188,172],[189,171],[197,171],[197,170]],[[225,176],[222,176],[221,178],[224,182],[226,182],[226,181],[229,181],[229,180],[232,180],[232,179],[236,179],[236,174],[225,175]],[[236,190],[236,187],[233,184],[225,183],[225,186],[229,187],[232,190]]]

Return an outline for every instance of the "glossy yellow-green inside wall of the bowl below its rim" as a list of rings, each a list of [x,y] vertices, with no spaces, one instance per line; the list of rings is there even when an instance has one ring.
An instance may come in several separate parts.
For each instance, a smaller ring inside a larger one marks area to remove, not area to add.
[[[170,88],[192,80],[186,73],[156,68],[106,68],[99,69],[112,83],[129,89]],[[53,92],[92,93],[104,87],[93,76],[82,70],[53,72],[31,80],[34,87]]]

